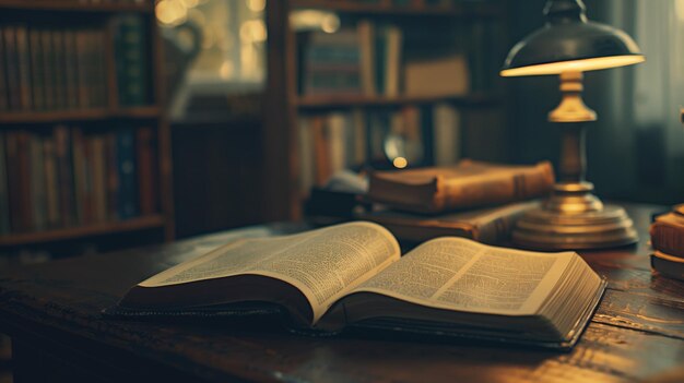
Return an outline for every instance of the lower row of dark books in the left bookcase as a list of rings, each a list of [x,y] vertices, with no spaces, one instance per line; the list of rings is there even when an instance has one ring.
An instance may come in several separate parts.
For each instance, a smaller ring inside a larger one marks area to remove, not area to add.
[[[0,132],[0,235],[157,212],[152,128]]]

